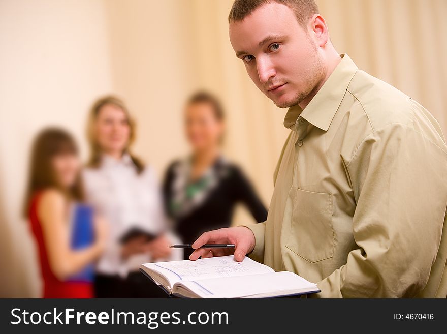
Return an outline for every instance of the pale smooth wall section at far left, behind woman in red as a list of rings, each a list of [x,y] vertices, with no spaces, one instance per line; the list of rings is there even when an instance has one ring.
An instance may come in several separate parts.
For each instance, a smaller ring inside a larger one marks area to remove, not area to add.
[[[48,125],[85,153],[86,110],[112,89],[108,23],[98,0],[0,2],[0,296],[38,296],[34,242],[20,217],[28,150]]]

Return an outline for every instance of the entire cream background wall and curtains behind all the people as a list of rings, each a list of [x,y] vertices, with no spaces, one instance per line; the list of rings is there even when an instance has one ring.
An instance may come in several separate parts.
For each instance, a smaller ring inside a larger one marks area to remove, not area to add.
[[[403,90],[447,132],[445,0],[318,0],[339,52]],[[0,296],[37,296],[34,245],[19,216],[29,144],[46,125],[81,144],[94,98],[117,93],[138,120],[135,151],[162,176],[183,156],[181,109],[197,88],[228,114],[225,151],[265,204],[288,132],[285,110],[250,82],[228,39],[232,0],[0,2]],[[235,223],[249,221],[239,211]],[[4,256],[7,254],[7,256]],[[8,274],[5,275],[5,268]]]

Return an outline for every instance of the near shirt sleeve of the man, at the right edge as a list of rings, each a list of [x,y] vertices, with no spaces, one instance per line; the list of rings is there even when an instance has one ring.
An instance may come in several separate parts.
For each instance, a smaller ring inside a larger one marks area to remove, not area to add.
[[[447,153],[413,128],[374,131],[346,162],[358,249],[311,297],[412,297],[430,275],[447,206]]]

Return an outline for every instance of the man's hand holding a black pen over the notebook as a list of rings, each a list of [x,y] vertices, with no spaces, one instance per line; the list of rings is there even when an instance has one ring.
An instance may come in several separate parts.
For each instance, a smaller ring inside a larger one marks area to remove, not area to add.
[[[205,244],[234,244],[235,248],[199,248]],[[189,256],[192,261],[201,256],[204,259],[234,254],[235,260],[242,262],[254,248],[254,234],[245,226],[221,228],[203,233],[194,241],[193,248],[195,251]]]

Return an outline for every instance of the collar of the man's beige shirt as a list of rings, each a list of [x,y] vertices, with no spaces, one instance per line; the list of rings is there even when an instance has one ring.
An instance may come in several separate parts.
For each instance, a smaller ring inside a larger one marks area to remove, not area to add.
[[[341,54],[340,56],[342,58],[341,62],[306,108],[303,110],[299,105],[289,108],[284,117],[286,128],[292,128],[297,123],[298,117],[301,116],[317,128],[324,131],[329,129],[349,82],[358,70],[356,64],[347,54]]]

